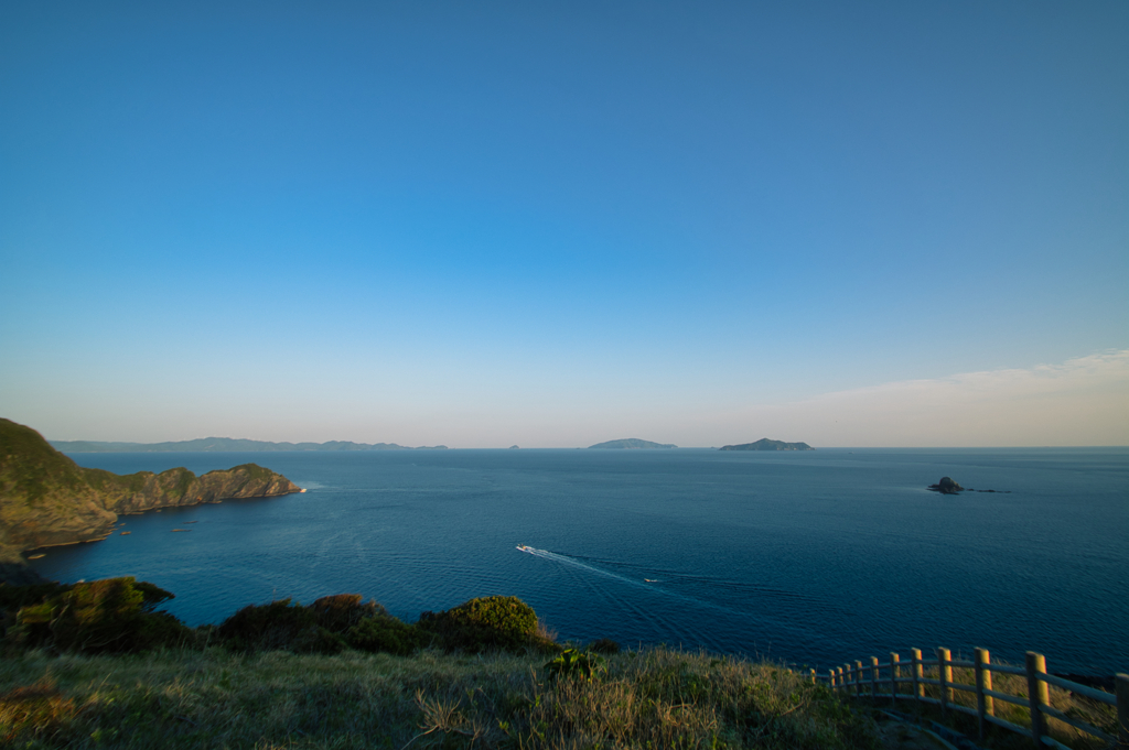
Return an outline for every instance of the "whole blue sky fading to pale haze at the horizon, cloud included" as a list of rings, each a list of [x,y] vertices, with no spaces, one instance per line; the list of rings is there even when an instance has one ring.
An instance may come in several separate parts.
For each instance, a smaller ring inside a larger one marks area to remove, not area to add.
[[[0,416],[1129,444],[1129,3],[0,0]]]

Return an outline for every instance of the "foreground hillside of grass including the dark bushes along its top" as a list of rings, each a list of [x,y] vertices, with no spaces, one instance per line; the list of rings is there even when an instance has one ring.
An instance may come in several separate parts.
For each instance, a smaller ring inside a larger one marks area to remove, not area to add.
[[[0,585],[0,744],[25,748],[867,748],[772,664],[552,639],[515,597],[415,624],[360,594],[187,628],[132,577]]]

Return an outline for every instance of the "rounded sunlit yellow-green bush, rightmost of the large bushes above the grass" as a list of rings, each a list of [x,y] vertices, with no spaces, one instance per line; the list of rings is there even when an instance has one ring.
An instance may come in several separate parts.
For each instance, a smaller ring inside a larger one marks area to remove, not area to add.
[[[472,653],[543,648],[550,643],[537,634],[536,612],[517,597],[483,597],[444,612],[423,612],[418,627],[448,650]]]

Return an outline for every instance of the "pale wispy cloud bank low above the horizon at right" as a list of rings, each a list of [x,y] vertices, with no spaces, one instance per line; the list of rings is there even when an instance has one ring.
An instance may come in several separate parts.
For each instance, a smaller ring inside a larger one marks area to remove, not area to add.
[[[1129,350],[837,391],[738,418],[742,434],[822,445],[1126,445]]]

